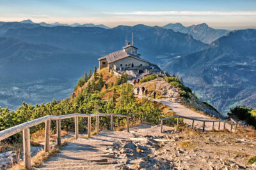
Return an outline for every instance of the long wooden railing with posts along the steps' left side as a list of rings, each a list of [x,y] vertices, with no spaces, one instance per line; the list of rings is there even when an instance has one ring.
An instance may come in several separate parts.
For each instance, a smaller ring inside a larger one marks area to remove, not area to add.
[[[129,115],[120,115],[115,113],[96,113],[96,114],[81,114],[81,113],[74,113],[70,115],[62,115],[62,116],[45,116],[42,118],[37,118],[35,120],[31,120],[24,124],[16,125],[9,129],[5,129],[4,131],[0,132],[0,141],[6,139],[13,134],[17,134],[22,131],[23,136],[23,152],[24,152],[24,163],[26,169],[31,169],[31,153],[30,153],[30,134],[29,128],[35,125],[41,124],[45,122],[45,146],[44,151],[49,152],[50,149],[50,134],[51,134],[51,120],[56,120],[57,125],[57,144],[61,145],[61,120],[66,118],[74,118],[75,122],[75,139],[78,138],[78,118],[79,117],[87,117],[88,118],[88,138],[91,138],[91,118],[96,117],[96,124],[97,124],[97,134],[99,134],[99,117],[102,116],[110,116],[111,118],[111,131],[113,131],[113,117],[125,117],[127,118],[127,132],[129,132]]]

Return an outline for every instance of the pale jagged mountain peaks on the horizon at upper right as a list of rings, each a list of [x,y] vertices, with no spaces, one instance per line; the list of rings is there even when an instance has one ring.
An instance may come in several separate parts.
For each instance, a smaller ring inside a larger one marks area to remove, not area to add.
[[[203,43],[207,43],[207,44],[220,38],[221,36],[225,36],[227,32],[229,32],[228,30],[225,30],[225,29],[213,29],[205,23],[198,24],[198,25],[191,25],[189,27],[185,27],[180,23],[167,24],[167,25],[164,25],[163,28],[172,29],[175,32],[179,31],[185,34],[189,34],[193,36],[193,38],[198,39]]]

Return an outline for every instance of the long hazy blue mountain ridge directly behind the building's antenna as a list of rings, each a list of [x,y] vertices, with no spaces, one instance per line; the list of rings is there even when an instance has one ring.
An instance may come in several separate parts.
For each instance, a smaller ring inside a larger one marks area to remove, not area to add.
[[[94,53],[100,57],[120,50],[125,45],[125,37],[131,36],[132,32],[134,45],[140,48],[142,57],[160,65],[174,57],[187,55],[207,46],[188,34],[146,25],[120,25],[113,29],[40,26],[33,29],[9,29],[3,36],[15,37],[33,44],[56,46],[72,52]]]

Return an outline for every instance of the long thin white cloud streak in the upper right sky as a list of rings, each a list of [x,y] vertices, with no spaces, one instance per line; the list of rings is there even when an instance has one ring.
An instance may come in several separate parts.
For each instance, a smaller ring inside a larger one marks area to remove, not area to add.
[[[256,15],[256,11],[132,11],[132,12],[104,12],[110,15]]]

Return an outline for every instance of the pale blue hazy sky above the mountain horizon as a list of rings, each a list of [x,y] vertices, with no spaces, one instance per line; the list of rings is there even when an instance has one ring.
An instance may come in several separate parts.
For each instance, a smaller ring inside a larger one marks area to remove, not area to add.
[[[0,0],[0,21],[256,28],[256,0]]]

